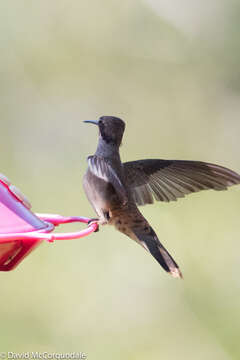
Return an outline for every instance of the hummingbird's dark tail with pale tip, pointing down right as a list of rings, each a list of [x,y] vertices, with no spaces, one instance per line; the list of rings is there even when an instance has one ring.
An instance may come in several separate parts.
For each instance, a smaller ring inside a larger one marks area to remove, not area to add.
[[[164,270],[169,272],[173,277],[182,278],[182,273],[177,263],[160,243],[154,230],[149,225],[143,229],[137,228],[131,230],[137,238],[134,240],[149,251]]]

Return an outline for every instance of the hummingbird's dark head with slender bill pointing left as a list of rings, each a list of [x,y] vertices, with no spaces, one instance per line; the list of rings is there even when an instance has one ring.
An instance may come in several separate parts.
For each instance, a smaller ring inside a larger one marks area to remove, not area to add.
[[[85,120],[86,123],[97,125],[99,128],[99,136],[108,144],[120,146],[125,123],[123,120],[115,116],[101,116],[97,121]]]

